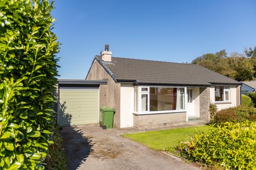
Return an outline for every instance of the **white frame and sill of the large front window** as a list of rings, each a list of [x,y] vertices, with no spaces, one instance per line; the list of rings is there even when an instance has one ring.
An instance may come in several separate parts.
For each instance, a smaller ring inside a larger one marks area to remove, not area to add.
[[[184,109],[180,110],[171,110],[171,111],[150,111],[150,87],[159,87],[159,88],[184,88],[185,92],[185,105]],[[148,91],[141,91],[141,88],[148,88]],[[148,95],[148,111],[141,111],[141,95],[147,94]],[[184,86],[138,86],[138,112],[135,114],[159,114],[159,113],[180,113],[180,112],[187,112],[187,87]]]

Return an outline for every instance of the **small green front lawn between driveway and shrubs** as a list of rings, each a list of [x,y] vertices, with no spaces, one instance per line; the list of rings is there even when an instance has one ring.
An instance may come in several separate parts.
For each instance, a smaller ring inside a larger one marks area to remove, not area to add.
[[[176,147],[180,141],[186,141],[198,131],[207,132],[210,126],[196,126],[161,131],[124,134],[123,136],[148,146],[150,149],[164,150]]]

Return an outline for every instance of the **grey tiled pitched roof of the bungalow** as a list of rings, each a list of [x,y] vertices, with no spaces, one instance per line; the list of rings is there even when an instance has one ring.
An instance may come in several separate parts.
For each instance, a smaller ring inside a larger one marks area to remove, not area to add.
[[[211,84],[241,84],[219,73],[195,64],[171,63],[112,57],[112,62],[95,59],[116,81],[137,81],[140,84],[181,84],[210,86]]]

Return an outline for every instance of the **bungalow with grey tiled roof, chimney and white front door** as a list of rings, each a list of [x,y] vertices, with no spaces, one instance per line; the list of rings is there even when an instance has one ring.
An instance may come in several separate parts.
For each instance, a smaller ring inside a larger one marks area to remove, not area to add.
[[[211,103],[218,109],[241,103],[241,82],[202,66],[111,55],[106,45],[86,81],[107,81],[99,84],[99,106],[115,108],[116,128],[209,121]]]

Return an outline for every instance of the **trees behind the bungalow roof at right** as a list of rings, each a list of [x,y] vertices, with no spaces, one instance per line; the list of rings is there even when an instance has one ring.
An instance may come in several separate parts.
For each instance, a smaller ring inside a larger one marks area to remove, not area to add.
[[[242,54],[234,52],[229,56],[225,49],[197,57],[192,64],[201,65],[237,81],[256,79],[256,46],[245,48]]]

